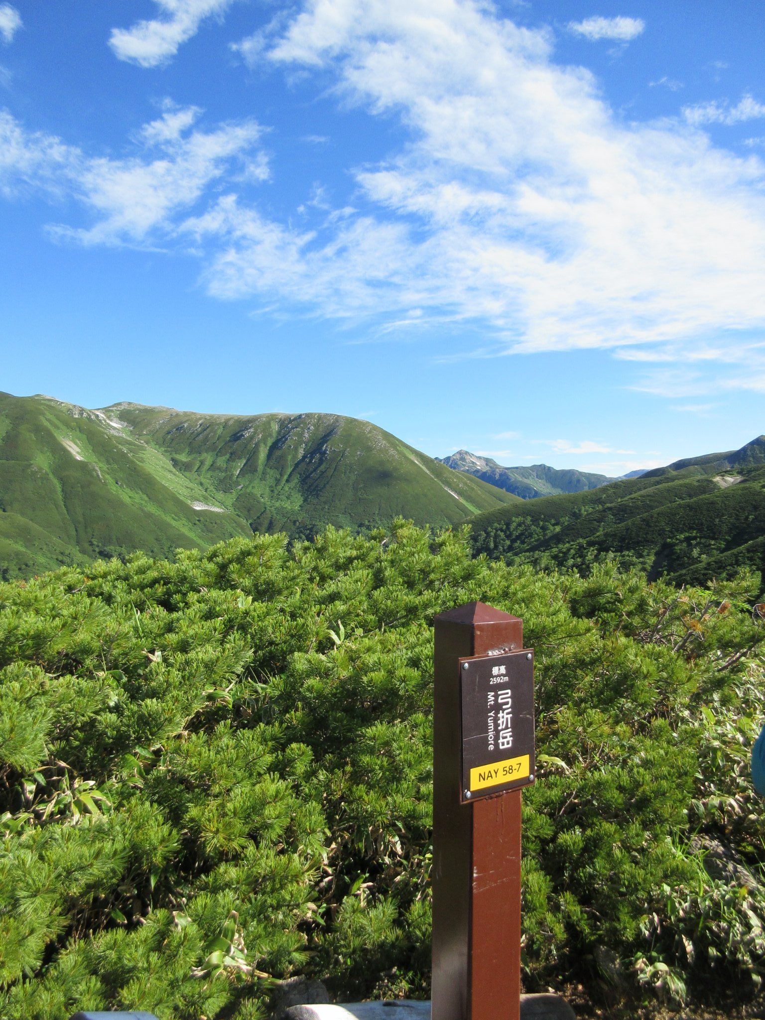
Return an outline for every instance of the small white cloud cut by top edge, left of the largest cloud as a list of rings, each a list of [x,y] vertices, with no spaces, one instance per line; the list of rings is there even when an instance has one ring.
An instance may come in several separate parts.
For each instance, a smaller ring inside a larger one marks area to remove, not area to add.
[[[164,15],[137,21],[131,29],[112,29],[109,46],[120,60],[156,67],[174,57],[178,47],[196,36],[200,23],[222,14],[234,0],[154,0]]]

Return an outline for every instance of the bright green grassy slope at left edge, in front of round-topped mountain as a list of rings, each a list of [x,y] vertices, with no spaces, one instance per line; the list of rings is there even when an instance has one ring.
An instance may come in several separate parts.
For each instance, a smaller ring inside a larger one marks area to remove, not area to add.
[[[151,451],[117,420],[0,395],[0,570],[13,576],[248,533],[233,514],[195,509],[204,494],[183,476],[169,480],[157,477]]]

